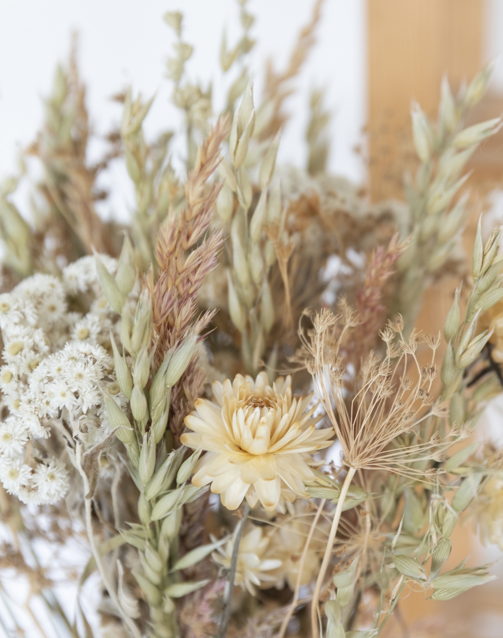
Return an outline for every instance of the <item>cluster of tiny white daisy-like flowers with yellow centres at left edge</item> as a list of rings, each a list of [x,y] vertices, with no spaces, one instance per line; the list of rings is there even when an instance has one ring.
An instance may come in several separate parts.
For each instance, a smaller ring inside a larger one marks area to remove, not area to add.
[[[102,255],[110,272],[116,260]],[[68,312],[78,297],[89,312]],[[35,274],[0,295],[3,337],[0,389],[0,481],[25,503],[55,503],[68,490],[64,461],[41,445],[53,427],[64,427],[84,443],[96,443],[108,429],[103,390],[118,396],[110,341],[117,316],[99,287],[94,257],[63,271],[62,281]]]

